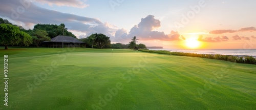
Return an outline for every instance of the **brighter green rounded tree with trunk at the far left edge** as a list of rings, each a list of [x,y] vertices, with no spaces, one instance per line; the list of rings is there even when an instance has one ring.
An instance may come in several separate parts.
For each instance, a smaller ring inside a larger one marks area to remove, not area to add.
[[[5,49],[8,49],[8,45],[18,45],[20,31],[17,26],[0,24],[0,33],[0,43]]]

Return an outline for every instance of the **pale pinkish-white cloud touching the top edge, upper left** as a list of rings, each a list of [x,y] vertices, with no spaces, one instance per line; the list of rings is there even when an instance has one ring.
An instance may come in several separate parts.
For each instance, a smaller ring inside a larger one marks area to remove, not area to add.
[[[57,5],[57,6],[67,6],[67,7],[75,7],[75,8],[86,8],[89,5],[85,4],[80,0],[33,0],[34,2],[41,4],[48,4],[49,6]]]

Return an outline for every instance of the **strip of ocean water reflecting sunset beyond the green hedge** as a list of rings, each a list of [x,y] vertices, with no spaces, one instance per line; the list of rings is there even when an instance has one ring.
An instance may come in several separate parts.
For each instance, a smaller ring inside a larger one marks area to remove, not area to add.
[[[256,57],[256,49],[150,49],[150,50],[166,50],[170,52],[185,52],[185,53],[197,53],[197,54],[221,54],[221,55]]]

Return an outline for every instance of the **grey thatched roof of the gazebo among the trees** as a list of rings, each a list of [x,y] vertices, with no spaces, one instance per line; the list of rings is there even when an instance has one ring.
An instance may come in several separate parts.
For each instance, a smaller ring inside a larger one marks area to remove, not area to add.
[[[82,41],[80,41],[80,40],[78,40],[74,37],[62,36],[62,35],[58,35],[56,37],[53,37],[51,39],[51,41],[44,41],[44,42],[83,43]]]

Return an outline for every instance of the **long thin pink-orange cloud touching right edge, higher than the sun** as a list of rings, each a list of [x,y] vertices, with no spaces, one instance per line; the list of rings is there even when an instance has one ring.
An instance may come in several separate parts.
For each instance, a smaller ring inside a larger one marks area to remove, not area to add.
[[[241,28],[240,30],[214,30],[210,31],[209,34],[223,34],[223,33],[234,33],[234,32],[253,32],[256,31],[255,27]]]

